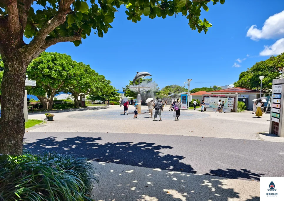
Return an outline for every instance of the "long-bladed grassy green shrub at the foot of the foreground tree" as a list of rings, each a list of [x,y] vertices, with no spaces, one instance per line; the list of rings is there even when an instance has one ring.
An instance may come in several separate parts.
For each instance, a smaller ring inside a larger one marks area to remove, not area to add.
[[[86,201],[98,183],[86,158],[44,152],[0,155],[0,200]]]

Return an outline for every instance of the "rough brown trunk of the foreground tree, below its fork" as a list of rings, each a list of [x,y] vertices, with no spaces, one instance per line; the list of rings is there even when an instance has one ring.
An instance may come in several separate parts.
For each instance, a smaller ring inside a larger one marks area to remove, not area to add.
[[[1,84],[0,154],[22,154],[25,134],[23,113],[25,73],[28,64],[29,62],[16,54],[4,60],[4,75]]]

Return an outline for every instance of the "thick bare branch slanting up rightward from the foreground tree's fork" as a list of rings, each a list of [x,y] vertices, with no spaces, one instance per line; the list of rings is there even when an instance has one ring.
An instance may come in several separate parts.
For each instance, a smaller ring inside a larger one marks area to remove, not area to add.
[[[34,36],[34,39],[27,45],[26,48],[28,52],[42,49],[41,46],[45,44],[47,35],[66,21],[66,14],[70,12],[70,5],[73,1],[74,0],[61,0],[59,2],[59,8],[55,16],[41,27],[36,36]]]

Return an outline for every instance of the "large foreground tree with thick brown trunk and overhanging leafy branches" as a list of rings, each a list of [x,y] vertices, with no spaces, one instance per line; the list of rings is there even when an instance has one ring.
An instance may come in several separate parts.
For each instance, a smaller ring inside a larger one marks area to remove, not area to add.
[[[214,0],[213,5],[225,0]],[[51,45],[64,41],[81,44],[92,29],[99,37],[112,28],[110,23],[121,5],[127,5],[127,19],[137,22],[141,15],[153,19],[181,13],[191,29],[208,31],[212,25],[200,19],[210,0],[1,0],[0,54],[4,63],[0,154],[22,153],[24,137],[25,73],[29,63]],[[37,4],[37,5],[36,5]],[[89,7],[90,5],[91,7]],[[31,38],[26,44],[23,36]]]

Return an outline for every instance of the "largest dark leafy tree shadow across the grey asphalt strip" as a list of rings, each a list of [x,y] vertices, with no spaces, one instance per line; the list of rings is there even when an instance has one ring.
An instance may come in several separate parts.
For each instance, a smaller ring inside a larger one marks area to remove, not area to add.
[[[163,154],[161,149],[172,149],[171,146],[147,142],[106,142],[99,144],[97,141],[101,139],[101,137],[71,137],[57,141],[56,137],[47,137],[37,139],[36,142],[26,143],[24,147],[34,153],[43,150],[63,154],[68,152],[99,162],[196,173],[191,165],[180,162],[184,158],[183,156]]]

